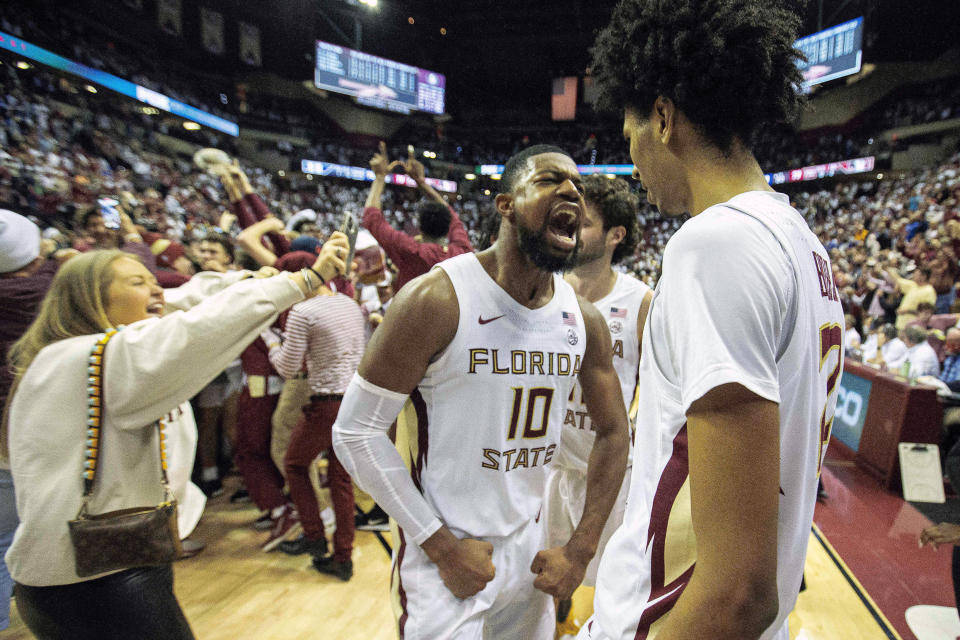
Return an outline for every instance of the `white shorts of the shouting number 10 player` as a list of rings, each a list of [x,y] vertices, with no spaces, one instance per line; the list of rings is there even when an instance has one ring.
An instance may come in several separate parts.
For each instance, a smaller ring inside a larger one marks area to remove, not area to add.
[[[509,536],[480,539],[493,544],[496,576],[483,591],[461,600],[420,547],[399,531],[391,590],[399,598],[400,640],[553,640],[553,599],[533,588],[536,576],[530,571],[544,548],[542,525],[531,520]]]

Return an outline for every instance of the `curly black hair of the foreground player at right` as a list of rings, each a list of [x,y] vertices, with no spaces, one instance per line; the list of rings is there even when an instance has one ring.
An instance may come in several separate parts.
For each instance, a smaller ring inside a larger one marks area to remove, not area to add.
[[[794,0],[621,0],[594,44],[598,107],[645,116],[673,101],[724,153],[767,124],[790,122],[804,98],[793,46]],[[789,8],[788,8],[789,7]]]

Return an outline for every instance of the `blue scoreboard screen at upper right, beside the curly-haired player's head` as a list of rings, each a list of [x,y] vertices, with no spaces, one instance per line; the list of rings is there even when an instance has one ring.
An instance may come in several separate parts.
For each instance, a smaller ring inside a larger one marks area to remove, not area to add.
[[[807,56],[800,63],[804,88],[860,71],[863,17],[800,38],[793,43]]]

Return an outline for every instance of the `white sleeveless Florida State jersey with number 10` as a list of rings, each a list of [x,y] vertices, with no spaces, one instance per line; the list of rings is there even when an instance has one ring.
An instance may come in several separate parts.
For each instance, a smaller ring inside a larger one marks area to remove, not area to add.
[[[573,288],[528,309],[474,254],[437,265],[453,283],[457,333],[410,394],[417,414],[414,483],[451,529],[508,535],[543,503],[567,398],[586,347]]]

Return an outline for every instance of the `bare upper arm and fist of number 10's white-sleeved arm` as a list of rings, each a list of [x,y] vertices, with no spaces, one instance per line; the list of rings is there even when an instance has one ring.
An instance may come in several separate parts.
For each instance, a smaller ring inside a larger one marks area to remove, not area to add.
[[[412,280],[394,298],[390,313],[367,346],[360,377],[378,387],[409,394],[423,379],[431,359],[453,340],[458,321],[457,297],[442,270]],[[420,547],[458,598],[476,594],[494,577],[493,545],[489,542],[461,540],[441,526]]]

